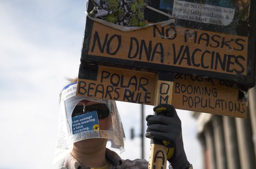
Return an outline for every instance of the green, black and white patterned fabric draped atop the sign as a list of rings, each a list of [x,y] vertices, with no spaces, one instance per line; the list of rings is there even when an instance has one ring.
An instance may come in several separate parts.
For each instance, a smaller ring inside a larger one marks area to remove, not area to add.
[[[144,20],[146,3],[141,0],[92,0],[91,17],[121,26],[147,26]]]

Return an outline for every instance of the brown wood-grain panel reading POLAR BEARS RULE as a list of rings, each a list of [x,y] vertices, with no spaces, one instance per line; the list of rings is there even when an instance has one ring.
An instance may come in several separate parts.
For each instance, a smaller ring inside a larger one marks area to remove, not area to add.
[[[76,94],[153,105],[156,78],[156,73],[100,66],[96,80],[78,79]]]

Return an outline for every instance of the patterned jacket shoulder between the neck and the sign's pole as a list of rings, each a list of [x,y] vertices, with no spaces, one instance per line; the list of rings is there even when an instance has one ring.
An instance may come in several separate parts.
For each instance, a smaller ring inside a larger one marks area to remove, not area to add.
[[[135,159],[135,160],[123,160],[122,164],[118,168],[131,168],[131,169],[147,169],[148,161],[144,159]]]

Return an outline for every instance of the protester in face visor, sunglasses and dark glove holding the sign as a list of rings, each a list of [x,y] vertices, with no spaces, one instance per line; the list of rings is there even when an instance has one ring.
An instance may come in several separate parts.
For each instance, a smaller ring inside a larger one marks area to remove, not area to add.
[[[70,84],[60,94],[58,141],[53,164],[66,156],[60,169],[147,169],[146,160],[122,160],[114,151],[106,148],[109,140],[111,147],[124,151],[125,135],[115,101],[77,96],[77,78],[69,81]],[[169,151],[169,168],[193,168],[186,158],[181,121],[175,108],[169,104],[160,104],[153,110],[164,113],[164,116],[146,117],[148,128],[145,136],[165,143]],[[91,113],[97,117],[94,118]],[[93,119],[98,119],[98,124]],[[88,129],[85,124],[93,125],[93,129]]]

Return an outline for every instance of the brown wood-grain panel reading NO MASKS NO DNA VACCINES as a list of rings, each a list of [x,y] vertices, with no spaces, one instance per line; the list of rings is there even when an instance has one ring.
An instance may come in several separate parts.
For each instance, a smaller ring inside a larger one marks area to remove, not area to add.
[[[166,65],[166,71],[175,66],[233,75],[247,73],[247,37],[157,25],[129,33],[106,30],[107,26],[94,23],[88,51],[91,57],[158,64],[158,70],[165,70],[161,65]]]

